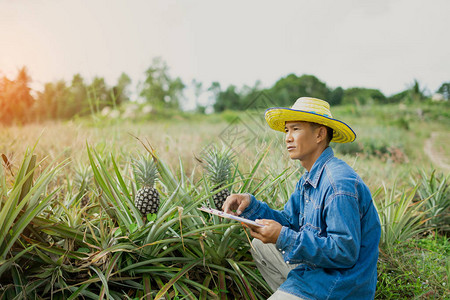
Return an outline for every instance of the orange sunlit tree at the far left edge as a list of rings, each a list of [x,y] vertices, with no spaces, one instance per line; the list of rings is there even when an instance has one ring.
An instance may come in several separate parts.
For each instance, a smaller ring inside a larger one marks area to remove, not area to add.
[[[25,67],[19,70],[15,80],[6,76],[0,79],[0,122],[11,124],[28,120],[34,104],[30,82],[31,77]]]

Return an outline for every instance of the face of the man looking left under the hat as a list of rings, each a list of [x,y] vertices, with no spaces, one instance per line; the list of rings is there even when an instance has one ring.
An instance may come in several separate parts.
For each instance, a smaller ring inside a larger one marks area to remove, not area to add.
[[[316,133],[319,128],[311,127],[308,122],[292,121],[286,122],[284,129],[289,156],[291,159],[299,159],[308,169],[320,156]]]

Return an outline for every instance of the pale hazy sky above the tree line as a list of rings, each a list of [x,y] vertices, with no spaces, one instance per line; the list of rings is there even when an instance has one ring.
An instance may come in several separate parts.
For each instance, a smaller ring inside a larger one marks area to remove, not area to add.
[[[125,72],[136,89],[161,57],[186,85],[295,73],[386,95],[417,79],[433,93],[450,81],[449,14],[448,0],[0,0],[0,76],[26,66],[40,90]]]

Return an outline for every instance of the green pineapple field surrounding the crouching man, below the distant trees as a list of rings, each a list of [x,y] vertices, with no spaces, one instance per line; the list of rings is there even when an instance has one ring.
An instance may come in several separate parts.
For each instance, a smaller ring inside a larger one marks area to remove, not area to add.
[[[382,223],[376,299],[448,299],[448,104],[333,114],[357,139],[331,146]],[[266,299],[245,228],[198,210],[230,193],[289,199],[304,170],[262,117],[0,127],[0,299]]]

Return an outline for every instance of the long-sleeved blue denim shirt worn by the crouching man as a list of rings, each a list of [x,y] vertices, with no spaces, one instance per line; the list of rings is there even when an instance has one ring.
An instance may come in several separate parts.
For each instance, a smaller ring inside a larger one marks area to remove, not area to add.
[[[368,187],[328,147],[282,211],[251,196],[243,217],[283,225],[276,247],[289,264],[280,290],[304,299],[373,299],[381,227]]]

